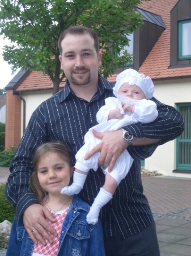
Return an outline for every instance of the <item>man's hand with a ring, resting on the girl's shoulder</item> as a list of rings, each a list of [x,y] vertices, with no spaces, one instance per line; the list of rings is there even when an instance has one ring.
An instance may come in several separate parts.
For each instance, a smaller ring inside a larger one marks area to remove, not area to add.
[[[23,214],[24,227],[27,230],[28,236],[34,243],[40,241],[43,245],[46,245],[44,238],[46,238],[49,243],[53,242],[46,230],[53,234],[54,237],[57,237],[56,231],[48,224],[45,218],[56,222],[53,214],[40,204],[30,205]]]

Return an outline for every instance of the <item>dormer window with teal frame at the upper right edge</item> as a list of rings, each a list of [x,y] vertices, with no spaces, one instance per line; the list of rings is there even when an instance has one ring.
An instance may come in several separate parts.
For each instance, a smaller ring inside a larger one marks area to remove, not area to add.
[[[191,57],[191,20],[179,22],[179,59]]]

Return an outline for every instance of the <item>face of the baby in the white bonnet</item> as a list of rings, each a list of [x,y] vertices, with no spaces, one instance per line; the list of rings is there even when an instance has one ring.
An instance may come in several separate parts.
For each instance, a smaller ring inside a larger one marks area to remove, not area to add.
[[[118,90],[118,94],[120,96],[133,98],[134,100],[143,100],[145,97],[145,93],[139,88],[139,86],[135,84],[129,85],[129,82],[124,82]]]

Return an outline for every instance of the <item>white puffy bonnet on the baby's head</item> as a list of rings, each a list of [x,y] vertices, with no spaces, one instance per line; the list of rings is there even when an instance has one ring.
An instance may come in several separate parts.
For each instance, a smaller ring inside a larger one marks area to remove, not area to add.
[[[140,74],[134,69],[126,69],[125,71],[121,72],[116,78],[116,85],[113,88],[113,93],[117,97],[118,90],[120,89],[121,85],[124,82],[129,82],[129,84],[135,84],[142,89],[143,93],[147,100],[150,100],[153,97],[154,93],[154,84],[152,79],[149,76],[144,74]]]

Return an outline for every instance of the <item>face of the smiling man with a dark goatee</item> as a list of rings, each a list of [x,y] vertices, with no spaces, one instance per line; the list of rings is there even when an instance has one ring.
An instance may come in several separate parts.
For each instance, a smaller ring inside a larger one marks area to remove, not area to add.
[[[94,39],[89,34],[67,34],[62,40],[61,68],[70,86],[95,84],[98,81],[98,68],[101,66],[101,53],[97,53]]]

